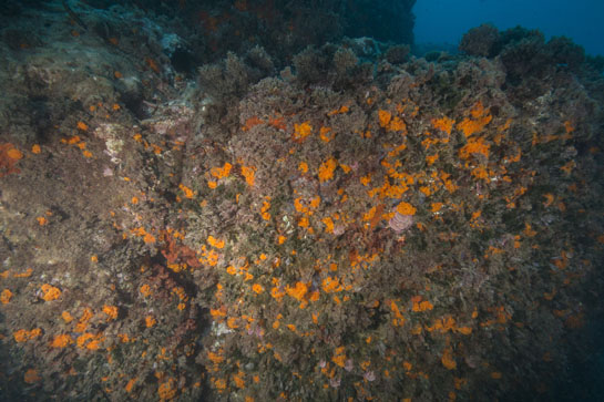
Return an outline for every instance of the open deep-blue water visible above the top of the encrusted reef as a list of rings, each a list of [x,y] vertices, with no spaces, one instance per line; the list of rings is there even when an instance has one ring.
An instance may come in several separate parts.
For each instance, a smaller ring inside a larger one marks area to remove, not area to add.
[[[604,0],[418,0],[416,42],[457,45],[470,28],[539,29],[546,39],[569,37],[592,55],[604,55]]]

